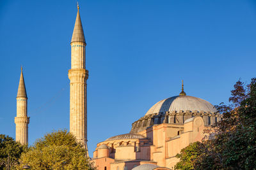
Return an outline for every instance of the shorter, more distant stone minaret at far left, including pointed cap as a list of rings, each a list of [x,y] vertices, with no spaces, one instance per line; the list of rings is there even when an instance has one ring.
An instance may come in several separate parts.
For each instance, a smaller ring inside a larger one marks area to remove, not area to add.
[[[16,97],[17,117],[14,119],[16,124],[16,141],[19,141],[21,144],[28,145],[28,97],[23,78],[22,67],[20,69],[20,83]]]

